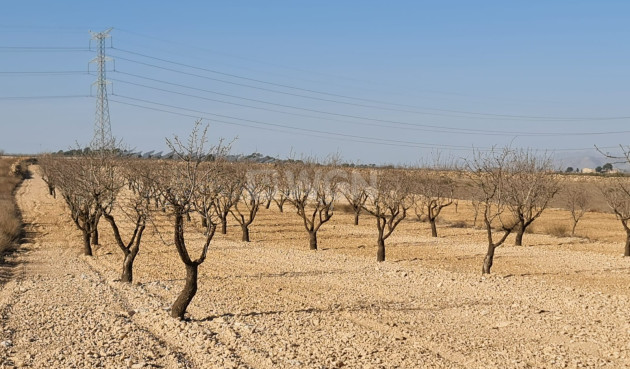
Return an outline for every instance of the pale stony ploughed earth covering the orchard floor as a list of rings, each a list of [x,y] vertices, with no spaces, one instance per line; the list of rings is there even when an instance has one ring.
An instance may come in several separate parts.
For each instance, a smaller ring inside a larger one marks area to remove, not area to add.
[[[36,173],[17,201],[28,234],[0,266],[0,368],[630,367],[620,244],[528,234],[482,278],[480,230],[440,225],[434,239],[410,220],[377,264],[366,216],[355,227],[335,215],[313,252],[297,215],[262,209],[253,242],[236,227],[216,236],[180,322],[168,308],[184,270],[167,228],[165,242],[147,232],[124,285],[109,228],[84,257]]]

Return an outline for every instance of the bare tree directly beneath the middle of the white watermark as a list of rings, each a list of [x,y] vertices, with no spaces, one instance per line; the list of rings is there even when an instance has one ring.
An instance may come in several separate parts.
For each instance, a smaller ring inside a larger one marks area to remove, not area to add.
[[[292,169],[292,170],[291,170]],[[324,170],[325,169],[325,170]],[[309,234],[309,248],[317,250],[317,232],[333,216],[333,203],[337,196],[339,175],[334,166],[318,166],[312,162],[292,165],[286,175],[294,185],[288,201],[295,206]]]

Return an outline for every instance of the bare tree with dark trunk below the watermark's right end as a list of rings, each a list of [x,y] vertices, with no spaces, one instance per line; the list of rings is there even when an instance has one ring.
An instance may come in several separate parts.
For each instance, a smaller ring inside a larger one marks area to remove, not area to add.
[[[405,170],[382,170],[378,183],[368,188],[363,209],[376,218],[378,229],[376,261],[385,261],[385,240],[407,217],[411,207],[411,178]]]

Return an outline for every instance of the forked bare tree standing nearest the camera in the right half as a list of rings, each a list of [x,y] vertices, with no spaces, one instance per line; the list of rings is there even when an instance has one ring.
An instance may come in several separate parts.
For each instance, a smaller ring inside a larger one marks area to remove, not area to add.
[[[488,249],[483,260],[482,274],[490,274],[497,247],[503,245],[517,223],[513,217],[506,217],[506,186],[510,172],[506,170],[511,152],[509,149],[490,152],[476,151],[466,162],[467,174],[474,184],[483,214],[483,222],[488,236]],[[501,238],[494,240],[494,224],[503,232]]]

